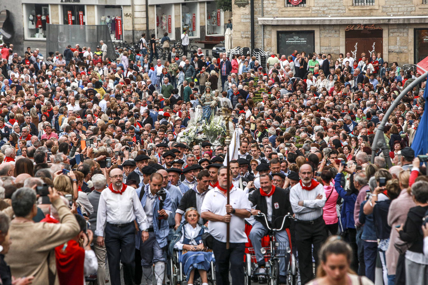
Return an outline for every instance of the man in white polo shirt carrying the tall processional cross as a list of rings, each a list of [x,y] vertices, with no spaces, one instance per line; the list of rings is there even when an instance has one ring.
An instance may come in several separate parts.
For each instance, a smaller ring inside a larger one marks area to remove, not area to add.
[[[213,253],[216,259],[216,279],[220,284],[229,284],[229,263],[232,284],[244,284],[245,243],[248,241],[244,232],[245,221],[251,215],[250,201],[241,189],[232,188],[229,191],[230,204],[227,199],[227,168],[218,170],[218,185],[206,194],[202,202],[201,217],[209,220],[208,232],[214,237]],[[226,224],[230,224],[229,242],[226,249]]]

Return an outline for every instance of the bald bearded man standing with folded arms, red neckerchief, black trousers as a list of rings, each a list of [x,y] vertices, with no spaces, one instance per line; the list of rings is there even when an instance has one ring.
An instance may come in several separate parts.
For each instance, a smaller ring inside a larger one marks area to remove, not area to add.
[[[312,271],[312,245],[315,266],[318,267],[318,251],[327,238],[323,207],[327,200],[324,186],[313,178],[309,164],[300,166],[300,181],[290,189],[290,203],[296,217],[295,232],[302,285],[314,279]]]

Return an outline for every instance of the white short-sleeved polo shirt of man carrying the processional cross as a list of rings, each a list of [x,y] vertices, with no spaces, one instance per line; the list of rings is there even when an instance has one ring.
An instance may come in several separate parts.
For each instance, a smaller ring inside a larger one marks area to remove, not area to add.
[[[230,205],[234,209],[246,209],[248,212],[251,212],[250,201],[246,193],[236,188],[232,187],[230,190]],[[227,199],[223,191],[219,190],[217,187],[208,191],[205,194],[204,202],[202,203],[201,213],[202,212],[212,212],[221,216],[226,215],[226,203]],[[232,214],[230,219],[230,242],[232,243],[241,243],[247,242],[247,235],[244,232],[245,221],[244,218],[238,217]],[[208,232],[217,240],[221,242],[226,242],[226,223],[209,221],[208,222]]]

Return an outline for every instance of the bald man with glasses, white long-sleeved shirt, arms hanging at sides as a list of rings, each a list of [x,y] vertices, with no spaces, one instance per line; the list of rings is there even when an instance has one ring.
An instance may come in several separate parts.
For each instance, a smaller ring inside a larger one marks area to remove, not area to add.
[[[98,246],[107,250],[107,259],[112,284],[120,284],[120,263],[123,264],[125,283],[134,284],[135,271],[135,225],[137,219],[141,239],[149,238],[149,223],[146,213],[131,186],[122,183],[123,172],[119,168],[110,171],[112,183],[101,192],[97,213]],[[106,223],[107,222],[107,223]],[[105,228],[104,228],[105,224]],[[130,279],[130,280],[127,280]]]

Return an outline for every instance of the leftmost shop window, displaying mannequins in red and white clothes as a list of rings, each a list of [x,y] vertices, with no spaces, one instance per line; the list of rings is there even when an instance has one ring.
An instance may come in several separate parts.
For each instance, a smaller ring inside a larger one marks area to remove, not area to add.
[[[25,22],[27,38],[46,38],[46,24],[49,20],[48,4],[25,4]]]

